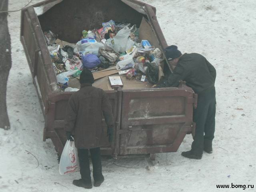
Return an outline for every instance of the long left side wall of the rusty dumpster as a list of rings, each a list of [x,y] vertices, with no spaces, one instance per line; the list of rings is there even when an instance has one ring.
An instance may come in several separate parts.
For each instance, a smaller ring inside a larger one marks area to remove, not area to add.
[[[46,43],[32,6],[22,9],[20,40],[24,47],[43,114],[47,112],[48,96],[60,91]]]

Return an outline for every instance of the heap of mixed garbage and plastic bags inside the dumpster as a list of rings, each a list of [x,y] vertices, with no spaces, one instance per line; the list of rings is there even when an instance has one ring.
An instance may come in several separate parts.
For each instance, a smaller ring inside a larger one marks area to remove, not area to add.
[[[83,30],[76,44],[62,41],[51,31],[44,32],[56,78],[62,90],[70,78],[83,69],[98,72],[110,67],[128,79],[156,84],[162,52],[148,40],[139,39],[136,25],[125,22],[102,23],[102,28]],[[67,89],[72,91],[72,89]]]

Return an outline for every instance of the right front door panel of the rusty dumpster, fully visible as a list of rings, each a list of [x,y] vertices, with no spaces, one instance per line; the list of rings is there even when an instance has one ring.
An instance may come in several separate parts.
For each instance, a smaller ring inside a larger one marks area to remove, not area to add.
[[[176,152],[192,131],[193,103],[185,89],[124,90],[120,154]]]

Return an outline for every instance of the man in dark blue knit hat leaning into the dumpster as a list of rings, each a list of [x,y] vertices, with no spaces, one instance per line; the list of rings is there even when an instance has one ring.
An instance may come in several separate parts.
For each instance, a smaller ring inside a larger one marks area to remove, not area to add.
[[[170,60],[175,69],[168,78],[160,81],[156,88],[177,87],[182,80],[186,81],[186,85],[198,94],[197,108],[193,112],[193,121],[196,123],[194,141],[191,150],[182,152],[182,156],[201,159],[203,150],[212,153],[216,110],[214,87],[216,70],[200,54],[181,54],[175,45],[168,46],[164,51],[167,60]]]

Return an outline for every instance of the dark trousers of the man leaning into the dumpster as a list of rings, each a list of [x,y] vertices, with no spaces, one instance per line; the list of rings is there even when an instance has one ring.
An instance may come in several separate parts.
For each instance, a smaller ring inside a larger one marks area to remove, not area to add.
[[[201,155],[203,154],[204,145],[212,145],[215,131],[215,112],[215,88],[198,94],[197,108],[194,109],[193,115],[196,132],[191,146],[192,152]]]

